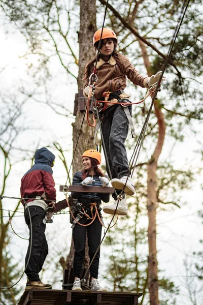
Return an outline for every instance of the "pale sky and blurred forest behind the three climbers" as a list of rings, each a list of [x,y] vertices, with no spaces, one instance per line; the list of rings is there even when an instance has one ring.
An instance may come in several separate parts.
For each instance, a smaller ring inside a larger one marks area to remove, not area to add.
[[[129,57],[141,75],[150,76],[161,69],[183,3],[110,2],[105,26],[114,29],[119,51]],[[94,54],[92,36],[103,24],[105,1],[0,1],[0,5],[0,193],[20,196],[20,179],[30,168],[35,150],[46,146],[56,155],[53,176],[57,200],[61,200],[64,195],[59,193],[59,185],[67,179],[83,115],[79,111],[76,117],[73,115],[75,94],[83,86],[84,66]],[[89,31],[81,35],[83,29],[87,31],[87,23],[91,24]],[[170,305],[181,301],[183,305],[200,305],[203,300],[199,242],[202,24],[201,1],[190,1],[165,71],[167,81],[158,93],[134,170],[137,195],[127,198],[129,216],[119,218],[101,247],[100,282],[109,290],[144,292],[141,304]],[[146,93],[130,83],[127,92],[132,102]],[[150,102],[148,98],[145,105],[133,106],[138,135]],[[92,135],[93,129],[85,121],[73,162],[74,172],[82,166],[83,150],[93,147]],[[129,159],[135,144],[129,133],[126,142]],[[152,223],[150,202],[155,203]],[[4,287],[19,279],[27,248],[27,240],[19,238],[9,225],[8,209],[13,213],[15,231],[28,237],[21,204],[15,199],[1,200],[0,282]],[[106,223],[110,219],[105,216]],[[155,229],[152,238],[150,228]],[[42,280],[60,289],[65,267],[61,257],[66,258],[71,246],[69,215],[56,215],[46,232],[50,251]],[[153,250],[150,245],[156,248]],[[151,253],[158,261],[157,275],[148,265]],[[159,288],[150,284],[157,276]],[[0,303],[16,304],[25,281],[23,276],[13,289],[0,290]],[[150,289],[156,291],[154,299],[150,298]]]

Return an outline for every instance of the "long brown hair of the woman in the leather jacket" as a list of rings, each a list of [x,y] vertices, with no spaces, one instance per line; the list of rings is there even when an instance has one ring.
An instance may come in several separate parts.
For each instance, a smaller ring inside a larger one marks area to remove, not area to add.
[[[114,51],[113,51],[113,53],[112,53],[111,55],[114,56],[114,58],[115,58],[115,60],[116,60],[116,62],[117,62],[118,67],[120,68],[121,72],[125,75],[125,66],[124,66],[124,64],[123,64],[122,54],[119,53],[119,52],[116,50],[117,43],[115,42],[114,39],[112,39],[112,40],[113,40],[113,43],[114,43]],[[102,40],[101,40],[101,43],[102,43]],[[98,45],[97,45],[97,44],[98,44],[98,42],[95,43],[95,49],[96,49],[96,50],[97,50],[97,48],[98,48]],[[84,74],[83,74],[83,75],[84,75],[83,80],[86,80],[86,79],[89,77],[89,75],[90,75],[90,68],[91,68],[92,64],[96,62],[96,56],[97,56],[97,55],[95,55],[95,56],[89,61],[89,63],[86,65],[85,71],[84,71]],[[99,59],[100,57],[101,57],[101,55],[99,54],[99,55],[98,55],[98,59]]]

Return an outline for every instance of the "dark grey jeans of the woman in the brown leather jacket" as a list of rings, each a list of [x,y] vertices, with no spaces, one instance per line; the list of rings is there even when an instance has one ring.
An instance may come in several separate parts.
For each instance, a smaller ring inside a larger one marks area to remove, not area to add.
[[[131,105],[128,106],[131,112]],[[106,162],[106,170],[112,178],[127,176],[129,166],[125,149],[125,140],[128,134],[128,119],[122,106],[111,107],[104,112],[104,119],[101,123],[105,147],[107,151],[110,170]],[[118,194],[122,190],[116,190]],[[116,199],[115,193],[112,194]]]

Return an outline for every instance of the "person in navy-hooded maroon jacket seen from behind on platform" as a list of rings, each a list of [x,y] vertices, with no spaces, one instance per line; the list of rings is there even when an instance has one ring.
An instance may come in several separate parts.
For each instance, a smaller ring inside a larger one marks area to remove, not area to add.
[[[20,193],[25,208],[25,222],[29,228],[29,246],[25,257],[25,289],[51,289],[50,284],[43,284],[39,277],[46,256],[48,244],[45,236],[46,209],[56,200],[55,182],[52,167],[55,156],[46,147],[35,153],[35,164],[21,179]],[[31,221],[30,221],[31,219]],[[31,231],[32,229],[32,243]],[[31,252],[30,252],[31,246]]]

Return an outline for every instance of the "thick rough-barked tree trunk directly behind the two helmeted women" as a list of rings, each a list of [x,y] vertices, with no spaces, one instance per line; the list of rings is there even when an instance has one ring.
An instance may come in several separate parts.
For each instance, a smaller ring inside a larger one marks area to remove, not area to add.
[[[84,82],[82,80],[86,64],[95,55],[92,44],[93,35],[96,32],[96,1],[95,0],[81,0],[80,1],[80,32],[78,33],[79,41],[79,73],[78,73],[78,90],[83,89]],[[92,115],[90,119],[92,119]],[[76,120],[73,125],[73,149],[75,150],[78,135],[80,132],[84,112],[77,109]],[[87,124],[85,116],[82,130],[80,133],[79,142],[76,147],[76,152],[73,160],[73,173],[82,168],[82,154],[85,150],[94,148],[94,128]],[[73,150],[73,151],[74,151]],[[72,238],[70,253],[66,259],[66,267],[70,269],[73,267],[74,259],[74,243]],[[87,268],[89,265],[88,247],[86,240],[86,251],[83,267]]]

